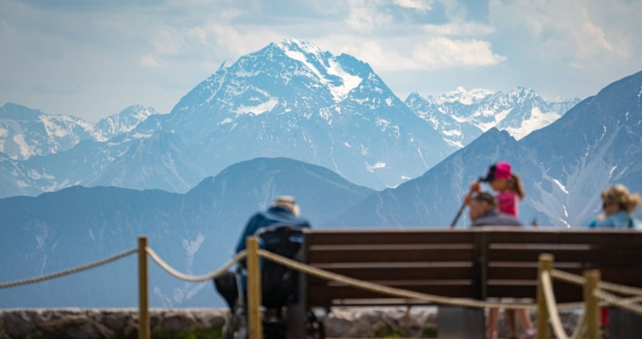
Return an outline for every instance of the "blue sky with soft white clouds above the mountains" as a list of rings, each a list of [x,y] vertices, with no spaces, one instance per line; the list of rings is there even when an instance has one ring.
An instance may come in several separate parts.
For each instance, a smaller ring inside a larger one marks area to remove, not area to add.
[[[0,0],[0,106],[169,112],[225,60],[297,38],[412,91],[596,94],[642,71],[638,0]]]

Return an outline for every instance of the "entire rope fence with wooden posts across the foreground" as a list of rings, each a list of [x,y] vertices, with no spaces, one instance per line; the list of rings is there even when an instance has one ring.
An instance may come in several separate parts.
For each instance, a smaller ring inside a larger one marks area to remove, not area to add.
[[[227,272],[232,266],[242,259],[247,259],[248,266],[248,327],[250,339],[259,339],[262,335],[261,321],[260,321],[260,258],[275,261],[281,265],[289,268],[297,269],[308,275],[317,278],[324,278],[331,281],[341,282],[350,286],[363,288],[378,293],[388,294],[391,296],[416,299],[425,301],[435,305],[446,306],[465,306],[465,307],[504,307],[506,309],[528,309],[536,310],[537,312],[537,338],[544,339],[549,337],[549,326],[551,324],[553,334],[560,339],[577,339],[581,337],[589,339],[600,338],[600,324],[599,324],[599,307],[600,306],[615,306],[626,309],[637,315],[642,315],[642,288],[628,287],[618,284],[609,283],[607,281],[600,281],[600,270],[589,269],[586,270],[583,276],[574,275],[564,272],[562,270],[552,268],[553,258],[551,254],[542,253],[540,255],[540,266],[538,272],[538,286],[535,304],[523,303],[500,303],[500,302],[486,302],[476,299],[468,298],[451,298],[428,295],[413,291],[408,291],[400,288],[387,287],[371,282],[365,282],[354,278],[345,277],[320,268],[307,266],[304,263],[296,260],[287,259],[271,253],[267,250],[260,250],[259,241],[255,237],[249,237],[247,240],[247,250],[243,250],[234,256],[229,262],[221,268],[216,269],[212,273],[203,276],[189,276],[170,267],[161,259],[154,250],[147,244],[146,237],[138,238],[137,249],[127,250],[118,253],[107,259],[90,263],[88,265],[80,266],[77,268],[66,269],[60,272],[44,275],[42,277],[27,278],[0,284],[0,288],[16,287],[21,285],[33,284],[42,282],[44,280],[60,278],[62,276],[71,275],[80,271],[97,268],[101,265],[108,264],[112,261],[125,258],[129,255],[137,253],[138,255],[138,338],[150,338],[149,326],[149,300],[148,300],[148,263],[147,256],[156,261],[161,268],[165,269],[169,274],[175,278],[182,279],[189,282],[201,282],[218,278],[223,273]],[[555,296],[552,292],[552,283],[554,279],[558,279],[567,283],[575,284],[583,288],[584,300],[582,303],[568,303],[557,304]],[[622,297],[626,296],[626,297]],[[573,333],[569,336],[565,333],[562,321],[560,320],[559,310],[562,308],[577,308],[583,307],[584,312],[581,315],[581,320],[574,329]],[[545,321],[541,321],[541,320]]]

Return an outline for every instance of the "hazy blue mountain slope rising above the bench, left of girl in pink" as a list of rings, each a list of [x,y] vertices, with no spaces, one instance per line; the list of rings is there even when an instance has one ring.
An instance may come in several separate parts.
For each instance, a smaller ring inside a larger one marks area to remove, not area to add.
[[[326,227],[446,227],[454,220],[469,184],[485,174],[486,166],[504,150],[519,146],[507,132],[495,128],[430,169],[397,188],[373,193]],[[458,224],[467,224],[463,214]]]

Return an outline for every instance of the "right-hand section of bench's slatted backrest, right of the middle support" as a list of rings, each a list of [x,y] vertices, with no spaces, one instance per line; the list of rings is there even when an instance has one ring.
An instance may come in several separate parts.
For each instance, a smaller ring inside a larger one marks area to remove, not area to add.
[[[541,253],[553,255],[553,268],[577,275],[599,268],[604,281],[642,287],[642,232],[541,228],[483,234],[483,296],[534,297]],[[553,288],[558,302],[582,299],[577,285],[555,280]]]

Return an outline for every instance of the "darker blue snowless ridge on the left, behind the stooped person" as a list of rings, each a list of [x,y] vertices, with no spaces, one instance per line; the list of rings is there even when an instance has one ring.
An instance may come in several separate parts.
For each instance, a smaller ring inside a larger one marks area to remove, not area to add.
[[[203,275],[231,259],[242,227],[274,196],[291,194],[313,227],[347,212],[373,190],[286,158],[231,165],[187,193],[73,186],[38,197],[0,199],[0,282],[40,277],[149,246],[173,268]],[[131,307],[136,256],[21,287],[0,289],[1,307]],[[150,306],[223,306],[211,281],[187,283],[150,262]]]

